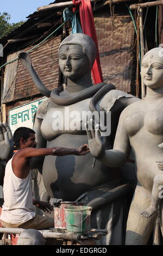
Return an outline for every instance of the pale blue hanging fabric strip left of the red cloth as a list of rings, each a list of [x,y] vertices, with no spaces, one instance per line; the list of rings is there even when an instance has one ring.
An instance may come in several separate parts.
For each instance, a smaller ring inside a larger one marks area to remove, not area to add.
[[[73,11],[71,11],[70,9],[66,8],[63,11],[63,19],[64,21],[68,21],[71,20],[71,27],[72,27],[72,31],[71,34],[74,33],[83,33],[82,28],[80,26],[80,23],[77,19],[76,14],[73,13]]]

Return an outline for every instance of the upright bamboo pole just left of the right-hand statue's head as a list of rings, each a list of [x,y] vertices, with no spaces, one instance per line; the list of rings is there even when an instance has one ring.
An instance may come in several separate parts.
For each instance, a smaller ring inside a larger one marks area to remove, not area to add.
[[[140,29],[140,46],[141,46],[141,61],[142,58],[145,56],[145,42],[143,36],[143,10],[140,8],[139,10],[139,29]],[[146,96],[146,87],[145,84],[141,81],[141,97],[142,99]]]

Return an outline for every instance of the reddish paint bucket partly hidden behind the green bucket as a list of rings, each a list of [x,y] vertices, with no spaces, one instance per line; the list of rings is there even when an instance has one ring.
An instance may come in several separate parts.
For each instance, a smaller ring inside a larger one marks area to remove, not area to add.
[[[70,208],[70,206],[84,205],[81,202],[61,202],[59,205],[54,206],[54,227],[60,229],[66,229],[65,221],[65,208]]]

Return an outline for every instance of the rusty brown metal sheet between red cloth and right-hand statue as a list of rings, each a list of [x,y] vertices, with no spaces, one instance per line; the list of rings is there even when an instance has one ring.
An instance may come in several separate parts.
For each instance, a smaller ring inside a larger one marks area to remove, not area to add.
[[[99,56],[104,82],[123,92],[131,92],[135,29],[130,16],[95,17]]]

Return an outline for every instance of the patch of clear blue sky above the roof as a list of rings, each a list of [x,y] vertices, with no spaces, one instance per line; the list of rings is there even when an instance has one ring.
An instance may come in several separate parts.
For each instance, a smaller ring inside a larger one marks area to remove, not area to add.
[[[37,7],[53,3],[54,0],[0,0],[0,13],[4,11],[11,15],[10,23],[27,20],[29,14],[34,13]]]

